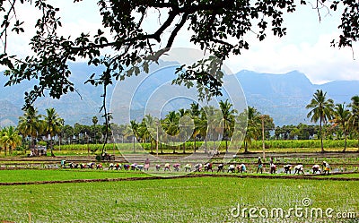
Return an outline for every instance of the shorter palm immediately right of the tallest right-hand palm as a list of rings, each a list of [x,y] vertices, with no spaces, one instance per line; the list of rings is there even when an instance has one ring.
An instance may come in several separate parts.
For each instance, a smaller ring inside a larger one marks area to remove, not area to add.
[[[343,152],[345,152],[346,151],[346,138],[347,138],[347,134],[348,134],[348,126],[349,126],[349,119],[350,119],[351,113],[348,109],[346,109],[345,103],[343,103],[343,104],[336,105],[336,107],[334,108],[333,116],[334,116],[334,118],[331,120],[331,122],[334,123],[334,126],[338,125],[344,133],[345,143],[344,143]]]

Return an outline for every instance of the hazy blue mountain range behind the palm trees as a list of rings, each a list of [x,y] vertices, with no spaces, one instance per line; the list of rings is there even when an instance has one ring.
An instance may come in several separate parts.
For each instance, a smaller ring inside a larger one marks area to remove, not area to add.
[[[55,107],[58,114],[65,119],[66,124],[92,124],[92,116],[101,117],[99,111],[102,103],[102,89],[93,87],[91,84],[84,84],[84,81],[92,73],[101,73],[101,68],[89,67],[87,64],[81,63],[70,64],[70,68],[73,73],[71,81],[74,82],[78,93],[69,93],[61,99],[39,98],[35,103],[35,107],[38,107],[40,114],[45,114],[45,109],[48,107]],[[131,92],[134,92],[134,88],[138,85],[136,77],[127,78],[125,81],[121,81],[118,86],[116,86],[116,83],[109,86],[108,102],[111,96],[112,98],[117,96],[112,102],[117,103],[118,107],[128,109],[128,102],[141,101],[141,96],[145,92],[153,92],[163,82],[171,82],[174,77],[166,74],[169,73],[168,69],[162,69],[159,73],[155,78],[146,80],[142,88],[143,92],[141,88],[137,88],[137,100],[134,100],[133,95],[131,95]],[[348,104],[351,97],[359,95],[359,81],[330,81],[324,84],[313,84],[304,73],[298,71],[276,74],[244,70],[234,75],[241,83],[247,105],[256,107],[262,114],[272,116],[275,124],[279,126],[284,124],[309,124],[310,119],[306,116],[308,110],[305,106],[309,104],[316,90],[327,91],[328,98],[334,99],[335,103],[346,102]],[[17,124],[18,117],[22,116],[23,113],[23,93],[30,90],[33,84],[36,83],[36,81],[27,81],[11,87],[3,87],[6,81],[6,77],[0,74],[0,126]],[[230,82],[229,87],[231,87],[231,84]],[[239,88],[233,84],[232,88]],[[112,92],[116,92],[115,89],[120,89],[121,93],[112,95]],[[193,92],[196,92],[195,89],[193,90]],[[177,86],[167,86],[164,92],[160,97],[161,99],[157,98],[156,100],[165,100],[166,97],[171,95],[170,93],[176,95],[176,93],[182,91]],[[238,92],[241,92],[241,90],[239,89]],[[166,112],[171,109],[188,107],[189,103],[191,103],[190,100],[182,99],[177,104],[170,101],[166,106],[156,107],[154,105],[151,107],[150,105],[148,109],[153,112],[158,112],[159,109],[162,109]],[[138,105],[132,105],[131,109],[135,107],[135,110],[131,113],[130,119],[143,116],[140,108],[136,110],[136,107],[141,106],[143,106],[143,102]],[[115,119],[119,120],[119,123],[124,123],[127,122],[128,117],[115,117]]]

